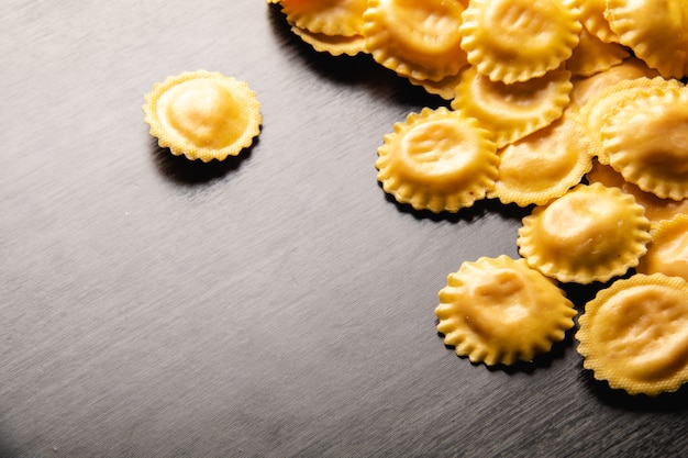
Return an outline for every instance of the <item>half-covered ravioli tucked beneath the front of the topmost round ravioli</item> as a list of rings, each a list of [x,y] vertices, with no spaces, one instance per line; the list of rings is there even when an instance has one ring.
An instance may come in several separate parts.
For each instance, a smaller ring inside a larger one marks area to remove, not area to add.
[[[567,70],[506,85],[490,81],[470,66],[460,74],[452,108],[477,119],[501,148],[559,119],[570,101],[572,88]]]

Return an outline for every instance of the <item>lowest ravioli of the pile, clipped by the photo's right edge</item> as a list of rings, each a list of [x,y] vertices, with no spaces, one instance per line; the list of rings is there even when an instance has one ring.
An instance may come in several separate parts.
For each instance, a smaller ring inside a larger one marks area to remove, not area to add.
[[[578,321],[578,353],[598,380],[656,396],[688,380],[688,282],[663,273],[614,281]]]

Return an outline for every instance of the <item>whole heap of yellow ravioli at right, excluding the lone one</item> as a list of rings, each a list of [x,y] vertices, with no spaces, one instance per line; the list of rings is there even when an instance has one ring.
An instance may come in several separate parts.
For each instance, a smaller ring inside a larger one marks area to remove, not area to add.
[[[595,284],[577,350],[598,380],[651,396],[688,381],[688,5],[668,0],[268,0],[333,56],[376,63],[447,101],[396,123],[385,192],[456,213],[529,213],[520,258],[447,277],[444,343],[473,362],[532,361]]]

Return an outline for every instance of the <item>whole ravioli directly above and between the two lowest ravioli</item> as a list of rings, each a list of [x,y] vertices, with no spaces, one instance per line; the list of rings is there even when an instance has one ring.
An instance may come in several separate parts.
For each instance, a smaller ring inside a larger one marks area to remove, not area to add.
[[[637,266],[650,221],[633,196],[578,185],[523,219],[517,245],[528,264],[563,282],[608,281]]]

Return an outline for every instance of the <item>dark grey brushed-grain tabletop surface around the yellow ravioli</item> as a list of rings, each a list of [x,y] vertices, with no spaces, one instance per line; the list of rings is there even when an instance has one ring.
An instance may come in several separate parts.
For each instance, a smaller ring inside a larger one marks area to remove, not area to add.
[[[0,457],[680,456],[686,390],[630,398],[572,334],[488,369],[435,331],[447,273],[523,211],[389,200],[376,149],[424,94],[262,0],[0,7]],[[144,94],[247,81],[237,159],[157,147]],[[592,292],[570,289],[579,310]]]

